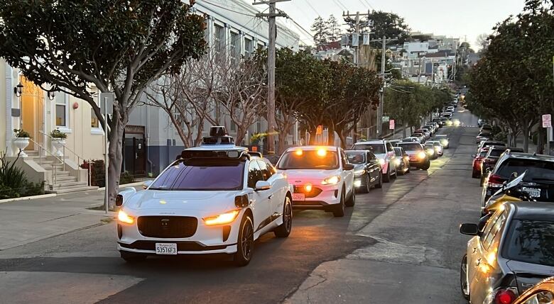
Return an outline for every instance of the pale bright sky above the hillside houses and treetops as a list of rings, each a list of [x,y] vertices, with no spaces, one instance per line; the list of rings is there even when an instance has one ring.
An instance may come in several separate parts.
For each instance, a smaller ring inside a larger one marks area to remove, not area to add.
[[[519,13],[524,0],[291,0],[278,2],[277,8],[309,31],[317,16],[327,18],[334,14],[340,17],[345,9],[350,13],[362,13],[371,9],[368,4],[376,11],[393,12],[403,17],[411,30],[460,38],[477,49],[477,36],[492,33],[496,23]],[[291,28],[305,43],[313,43],[303,30]]]

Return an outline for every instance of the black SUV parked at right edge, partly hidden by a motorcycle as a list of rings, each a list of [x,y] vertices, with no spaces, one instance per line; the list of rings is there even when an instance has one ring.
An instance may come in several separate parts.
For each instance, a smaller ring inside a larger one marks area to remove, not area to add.
[[[508,181],[511,174],[527,171],[523,183],[537,201],[554,198],[554,157],[541,154],[518,153],[506,150],[493,169],[487,171],[481,194],[481,206]]]

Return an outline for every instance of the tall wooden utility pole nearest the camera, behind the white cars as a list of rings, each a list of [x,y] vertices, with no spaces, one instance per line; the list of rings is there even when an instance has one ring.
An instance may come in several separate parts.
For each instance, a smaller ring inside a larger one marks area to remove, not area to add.
[[[256,17],[268,17],[269,35],[268,35],[268,60],[267,60],[267,152],[275,153],[275,41],[277,36],[276,17],[286,17],[286,13],[276,13],[277,2],[290,0],[264,0],[254,2],[253,5],[269,4],[269,13],[256,13]],[[280,142],[279,145],[283,145]]]

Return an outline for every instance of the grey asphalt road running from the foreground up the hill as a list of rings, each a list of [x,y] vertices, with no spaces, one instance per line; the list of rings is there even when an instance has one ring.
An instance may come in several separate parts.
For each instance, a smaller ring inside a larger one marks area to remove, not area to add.
[[[479,215],[478,129],[457,110],[465,126],[440,130],[450,149],[428,171],[359,194],[344,218],[295,212],[290,237],[261,237],[249,266],[221,257],[126,264],[109,223],[0,251],[0,303],[464,303],[467,237],[457,227]]]

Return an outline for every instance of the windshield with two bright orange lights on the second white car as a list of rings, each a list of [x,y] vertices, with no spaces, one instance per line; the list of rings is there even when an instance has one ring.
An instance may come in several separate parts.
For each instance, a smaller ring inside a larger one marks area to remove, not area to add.
[[[339,157],[337,152],[321,150],[292,150],[283,154],[279,159],[277,169],[338,169]]]

